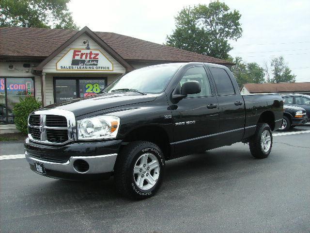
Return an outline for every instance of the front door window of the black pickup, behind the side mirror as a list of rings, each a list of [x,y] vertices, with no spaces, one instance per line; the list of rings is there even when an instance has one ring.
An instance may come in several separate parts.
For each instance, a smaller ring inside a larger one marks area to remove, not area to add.
[[[197,81],[202,87],[202,91],[198,94],[187,95],[187,97],[202,97],[202,96],[212,96],[211,86],[207,73],[203,67],[191,67],[187,69],[183,78],[179,83],[179,87],[182,87],[183,83],[187,81]],[[181,90],[181,88],[180,88]]]

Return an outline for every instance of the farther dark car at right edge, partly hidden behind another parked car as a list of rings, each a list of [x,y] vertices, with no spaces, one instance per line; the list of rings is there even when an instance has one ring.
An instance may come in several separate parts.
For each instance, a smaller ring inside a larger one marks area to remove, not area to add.
[[[310,95],[282,95],[282,99],[284,105],[292,105],[304,108],[308,116],[308,121],[310,121]]]

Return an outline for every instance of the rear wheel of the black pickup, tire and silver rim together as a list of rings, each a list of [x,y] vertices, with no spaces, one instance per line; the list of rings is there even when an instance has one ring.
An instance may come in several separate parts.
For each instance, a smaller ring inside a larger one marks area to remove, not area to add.
[[[268,124],[257,124],[256,132],[249,141],[249,148],[257,159],[268,157],[272,148],[272,131]]]

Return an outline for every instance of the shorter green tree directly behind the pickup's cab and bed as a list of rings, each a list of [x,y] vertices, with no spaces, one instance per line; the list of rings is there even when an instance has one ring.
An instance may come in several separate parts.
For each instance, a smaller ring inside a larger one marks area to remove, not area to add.
[[[264,83],[265,72],[263,67],[260,67],[256,62],[246,63],[242,61],[241,57],[236,57],[230,60],[236,65],[231,67],[233,76],[235,77],[239,86],[245,83]]]

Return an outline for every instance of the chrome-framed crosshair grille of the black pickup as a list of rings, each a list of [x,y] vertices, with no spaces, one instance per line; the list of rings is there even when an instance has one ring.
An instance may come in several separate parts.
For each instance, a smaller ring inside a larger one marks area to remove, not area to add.
[[[29,116],[28,136],[43,144],[65,144],[76,139],[72,112],[62,109],[39,110]]]

